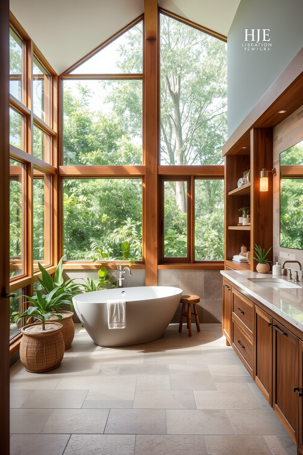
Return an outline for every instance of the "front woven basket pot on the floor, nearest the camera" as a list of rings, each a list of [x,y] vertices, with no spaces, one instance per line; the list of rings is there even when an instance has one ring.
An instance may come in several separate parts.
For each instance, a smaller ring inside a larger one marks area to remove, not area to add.
[[[30,373],[43,373],[59,367],[64,355],[62,324],[45,322],[22,327],[20,360]]]

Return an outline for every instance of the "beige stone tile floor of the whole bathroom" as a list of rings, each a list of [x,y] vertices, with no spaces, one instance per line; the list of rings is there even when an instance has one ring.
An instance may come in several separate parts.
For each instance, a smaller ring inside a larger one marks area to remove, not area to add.
[[[296,455],[221,324],[96,346],[80,324],[60,367],[11,367],[11,455]]]

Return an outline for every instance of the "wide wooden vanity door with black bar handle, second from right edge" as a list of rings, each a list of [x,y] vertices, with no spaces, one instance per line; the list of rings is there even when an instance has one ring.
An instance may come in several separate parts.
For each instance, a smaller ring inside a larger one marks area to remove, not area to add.
[[[273,410],[298,441],[299,339],[273,319]]]

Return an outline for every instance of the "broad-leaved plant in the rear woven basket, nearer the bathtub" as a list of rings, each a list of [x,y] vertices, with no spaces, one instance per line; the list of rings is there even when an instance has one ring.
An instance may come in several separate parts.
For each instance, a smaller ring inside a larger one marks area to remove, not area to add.
[[[42,277],[38,278],[40,282],[40,291],[42,295],[49,294],[52,296],[52,305],[51,310],[53,315],[51,317],[52,321],[57,320],[57,313],[60,312],[62,319],[61,324],[62,335],[64,339],[65,349],[70,348],[72,341],[75,336],[75,326],[73,322],[73,311],[66,311],[62,308],[65,304],[70,305],[71,310],[74,309],[72,304],[72,298],[74,295],[81,293],[81,289],[78,283],[75,283],[73,279],[64,281],[63,279],[63,258],[60,259],[58,266],[55,271],[55,277],[52,279],[50,274],[45,270],[45,268],[38,263]]]

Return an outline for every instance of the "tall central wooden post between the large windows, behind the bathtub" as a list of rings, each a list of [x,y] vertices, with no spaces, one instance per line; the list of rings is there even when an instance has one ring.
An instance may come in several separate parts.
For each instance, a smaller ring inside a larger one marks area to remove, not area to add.
[[[145,284],[158,284],[159,58],[157,0],[144,0],[144,238]]]

